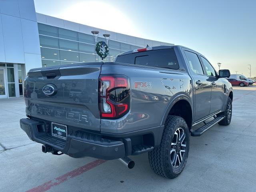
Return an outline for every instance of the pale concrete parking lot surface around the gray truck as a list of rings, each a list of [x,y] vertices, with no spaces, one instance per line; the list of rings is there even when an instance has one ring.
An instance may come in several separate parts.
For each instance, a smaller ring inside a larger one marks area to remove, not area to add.
[[[256,191],[256,86],[234,87],[232,122],[191,137],[182,174],[168,180],[150,169],[148,155],[131,156],[128,170],[118,160],[74,159],[41,151],[20,129],[23,98],[0,100],[0,191]]]

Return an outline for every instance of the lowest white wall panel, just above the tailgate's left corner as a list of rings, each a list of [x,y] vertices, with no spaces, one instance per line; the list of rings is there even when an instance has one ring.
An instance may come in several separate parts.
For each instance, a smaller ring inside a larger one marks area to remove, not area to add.
[[[41,55],[25,53],[26,73],[33,68],[42,67]]]

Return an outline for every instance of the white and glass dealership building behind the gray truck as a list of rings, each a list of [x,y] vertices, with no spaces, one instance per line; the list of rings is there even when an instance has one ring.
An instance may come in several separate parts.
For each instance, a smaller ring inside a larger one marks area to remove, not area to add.
[[[33,0],[0,0],[0,99],[22,96],[32,68],[100,61],[95,44],[102,40],[109,46],[104,60],[109,62],[146,45],[173,45],[39,14]]]

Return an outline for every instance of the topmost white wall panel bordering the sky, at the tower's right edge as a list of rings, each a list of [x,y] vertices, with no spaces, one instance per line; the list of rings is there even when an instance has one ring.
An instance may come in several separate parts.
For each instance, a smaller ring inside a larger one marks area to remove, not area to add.
[[[18,0],[20,18],[36,21],[36,10],[33,0]]]

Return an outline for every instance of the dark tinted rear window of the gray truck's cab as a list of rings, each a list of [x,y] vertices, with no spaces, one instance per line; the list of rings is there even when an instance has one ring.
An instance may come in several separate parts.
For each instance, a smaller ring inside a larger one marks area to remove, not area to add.
[[[179,64],[174,49],[159,49],[121,55],[116,62],[167,69],[178,69]]]

